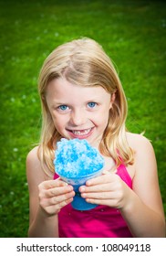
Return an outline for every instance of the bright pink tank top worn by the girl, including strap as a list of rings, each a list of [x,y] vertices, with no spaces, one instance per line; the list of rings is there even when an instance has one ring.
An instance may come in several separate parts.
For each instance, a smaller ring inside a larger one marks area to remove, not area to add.
[[[132,188],[125,165],[119,165],[117,175]],[[58,176],[55,174],[54,179]],[[99,205],[90,210],[77,210],[68,204],[58,213],[60,238],[130,238],[130,229],[119,209]]]

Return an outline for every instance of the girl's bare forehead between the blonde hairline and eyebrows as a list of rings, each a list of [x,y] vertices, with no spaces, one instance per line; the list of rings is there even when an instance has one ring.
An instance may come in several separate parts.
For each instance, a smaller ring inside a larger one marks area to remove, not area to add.
[[[110,98],[110,94],[101,86],[78,86],[63,78],[52,80],[48,84],[46,96],[49,101],[88,101]]]

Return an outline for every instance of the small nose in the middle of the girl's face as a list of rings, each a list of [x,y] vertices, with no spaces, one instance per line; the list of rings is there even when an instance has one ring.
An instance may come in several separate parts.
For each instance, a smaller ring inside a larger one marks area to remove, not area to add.
[[[74,126],[86,123],[86,113],[83,110],[73,110],[70,115],[70,123]]]

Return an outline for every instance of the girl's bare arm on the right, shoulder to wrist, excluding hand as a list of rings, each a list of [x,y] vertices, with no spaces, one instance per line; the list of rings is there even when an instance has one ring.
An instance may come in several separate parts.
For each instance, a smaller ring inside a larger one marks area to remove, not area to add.
[[[133,193],[121,213],[134,236],[165,237],[156,159],[150,142],[142,136],[136,139],[135,168]]]

